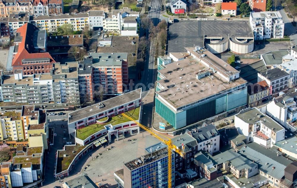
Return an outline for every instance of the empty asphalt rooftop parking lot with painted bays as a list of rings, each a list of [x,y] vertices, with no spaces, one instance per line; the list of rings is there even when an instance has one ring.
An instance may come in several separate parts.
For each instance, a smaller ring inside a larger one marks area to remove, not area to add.
[[[204,46],[203,36],[253,36],[247,21],[184,20],[169,25],[167,52],[185,52],[185,47]]]

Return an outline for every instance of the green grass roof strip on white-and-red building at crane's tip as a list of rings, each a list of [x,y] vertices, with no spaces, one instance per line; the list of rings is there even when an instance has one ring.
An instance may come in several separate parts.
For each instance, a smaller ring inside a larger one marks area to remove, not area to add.
[[[125,112],[125,114],[129,115],[129,117],[133,118],[134,120],[138,120],[139,110],[140,110],[140,107],[137,107],[133,110]],[[100,121],[102,121],[102,120],[100,119]],[[94,124],[86,126],[84,128],[77,129],[75,137],[77,137],[81,140],[84,140],[84,139],[88,138],[89,136],[91,136],[92,134],[97,133],[98,131],[104,129],[105,125],[108,125],[108,124],[117,125],[117,124],[129,122],[129,121],[130,120],[128,118],[124,118],[121,114],[119,114],[119,115],[109,118],[109,121],[107,123],[104,123],[104,124],[94,123]]]

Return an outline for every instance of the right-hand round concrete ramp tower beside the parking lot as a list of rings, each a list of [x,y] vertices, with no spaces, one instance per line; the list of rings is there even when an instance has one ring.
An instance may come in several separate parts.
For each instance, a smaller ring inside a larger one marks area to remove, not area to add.
[[[254,50],[254,39],[244,37],[231,37],[229,49],[234,54],[247,54]]]

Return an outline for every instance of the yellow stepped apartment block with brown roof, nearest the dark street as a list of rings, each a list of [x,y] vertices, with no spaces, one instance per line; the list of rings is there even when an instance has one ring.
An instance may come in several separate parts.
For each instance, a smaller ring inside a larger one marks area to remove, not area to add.
[[[48,124],[46,110],[35,110],[34,105],[22,107],[22,121],[30,147],[48,149]]]

